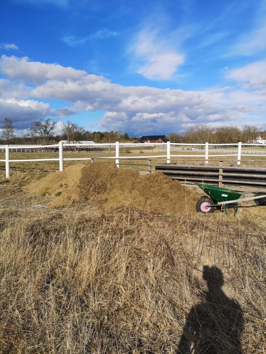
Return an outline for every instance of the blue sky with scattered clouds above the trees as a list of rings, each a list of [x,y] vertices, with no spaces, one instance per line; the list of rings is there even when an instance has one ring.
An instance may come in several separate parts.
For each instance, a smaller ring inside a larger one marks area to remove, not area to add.
[[[0,128],[266,128],[266,0],[1,0]]]

